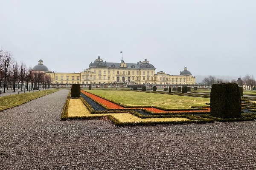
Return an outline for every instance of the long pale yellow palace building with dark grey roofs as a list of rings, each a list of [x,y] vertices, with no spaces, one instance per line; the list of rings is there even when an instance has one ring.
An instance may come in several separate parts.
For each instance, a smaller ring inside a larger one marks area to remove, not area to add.
[[[43,61],[39,60],[39,62],[43,64]],[[155,70],[154,65],[147,59],[137,63],[126,63],[123,59],[121,62],[106,62],[98,57],[89,64],[89,68],[80,73],[56,73],[54,71],[45,71],[45,73],[51,76],[53,84],[195,85],[195,77],[186,67],[180,71],[179,75],[170,75],[163,71],[155,73]]]

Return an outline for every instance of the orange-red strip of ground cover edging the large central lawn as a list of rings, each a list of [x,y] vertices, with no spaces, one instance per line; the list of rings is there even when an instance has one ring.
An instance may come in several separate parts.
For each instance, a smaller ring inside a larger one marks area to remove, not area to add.
[[[119,106],[119,105],[116,105],[115,103],[112,103],[106,99],[102,99],[101,97],[98,97],[94,94],[90,94],[86,91],[83,91],[81,90],[81,93],[85,94],[86,96],[92,98],[93,100],[101,103],[102,105],[105,105],[107,108],[110,108],[110,109],[124,109],[124,107],[122,106]],[[133,108],[134,109],[134,108]],[[138,109],[141,109],[141,108],[138,108]],[[210,111],[210,108],[208,108],[208,110],[203,110],[203,111],[163,111],[161,109],[157,109],[157,108],[143,108],[145,110],[148,110],[148,111],[151,111],[153,113],[187,113],[187,112],[209,112]]]

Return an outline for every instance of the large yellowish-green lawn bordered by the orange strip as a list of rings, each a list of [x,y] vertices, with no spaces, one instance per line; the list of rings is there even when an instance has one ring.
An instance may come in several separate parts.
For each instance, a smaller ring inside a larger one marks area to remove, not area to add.
[[[191,106],[209,106],[205,103],[210,102],[209,98],[204,97],[155,94],[139,91],[90,90],[88,92],[126,106],[155,106],[165,109],[187,109],[191,108]]]

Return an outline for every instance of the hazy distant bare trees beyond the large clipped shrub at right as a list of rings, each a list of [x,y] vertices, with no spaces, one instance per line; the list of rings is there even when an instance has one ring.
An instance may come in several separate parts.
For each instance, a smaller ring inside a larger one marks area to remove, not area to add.
[[[215,76],[208,76],[205,77],[202,82],[205,86],[211,86],[214,83],[237,83],[239,86],[247,86],[248,90],[253,90],[253,86],[256,86],[256,81],[253,77],[253,75],[245,75],[242,78],[239,78],[238,80],[232,79],[231,81],[228,81],[227,79],[220,79],[216,78]]]

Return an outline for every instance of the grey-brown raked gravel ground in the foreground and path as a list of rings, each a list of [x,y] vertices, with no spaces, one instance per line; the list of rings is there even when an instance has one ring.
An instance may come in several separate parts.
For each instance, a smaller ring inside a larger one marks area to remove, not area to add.
[[[68,92],[0,112],[0,169],[256,169],[256,121],[140,127],[61,121]]]

